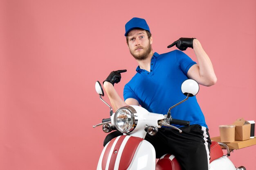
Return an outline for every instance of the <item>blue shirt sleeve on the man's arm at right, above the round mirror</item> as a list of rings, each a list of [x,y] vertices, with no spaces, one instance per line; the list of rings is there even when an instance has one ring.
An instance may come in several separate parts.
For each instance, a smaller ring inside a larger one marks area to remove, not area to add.
[[[185,54],[180,50],[175,50],[175,52],[176,52],[176,59],[178,61],[180,69],[182,70],[182,72],[184,72],[185,75],[187,75],[191,66],[196,64],[196,62],[193,61],[187,54]]]

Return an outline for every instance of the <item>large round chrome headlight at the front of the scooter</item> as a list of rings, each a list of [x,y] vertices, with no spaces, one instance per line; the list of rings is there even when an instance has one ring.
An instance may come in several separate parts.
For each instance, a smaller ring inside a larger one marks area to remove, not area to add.
[[[137,113],[131,106],[125,106],[118,109],[114,116],[114,124],[118,131],[130,133],[137,125],[134,113]]]

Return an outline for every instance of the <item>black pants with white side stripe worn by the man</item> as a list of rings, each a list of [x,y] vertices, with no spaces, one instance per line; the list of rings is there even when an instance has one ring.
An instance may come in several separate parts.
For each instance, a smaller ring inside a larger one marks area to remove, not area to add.
[[[155,136],[146,135],[156,151],[156,157],[169,153],[175,155],[183,170],[208,170],[211,139],[208,129],[200,125],[180,128],[182,133],[172,128],[160,128]],[[103,146],[111,139],[123,135],[114,131],[106,136]]]

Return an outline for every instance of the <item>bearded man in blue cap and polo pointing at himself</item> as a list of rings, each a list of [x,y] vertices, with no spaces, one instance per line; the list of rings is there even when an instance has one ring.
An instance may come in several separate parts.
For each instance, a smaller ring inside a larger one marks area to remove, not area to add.
[[[117,94],[114,83],[120,81],[121,72],[126,70],[111,72],[103,82],[114,110],[125,105],[141,105],[150,112],[166,114],[169,107],[184,99],[180,87],[186,79],[192,78],[205,86],[216,83],[213,65],[197,39],[180,38],[168,47],[193,48],[198,64],[180,50],[165,54],[153,52],[153,38],[144,19],[132,18],[125,28],[128,48],[139,66],[124,87],[125,101]],[[157,158],[172,153],[184,170],[209,169],[211,139],[195,96],[172,109],[172,118],[190,121],[191,126],[176,125],[182,133],[161,128],[155,136],[146,135],[145,139],[155,147]],[[118,135],[121,135],[118,131],[107,135],[104,145]]]

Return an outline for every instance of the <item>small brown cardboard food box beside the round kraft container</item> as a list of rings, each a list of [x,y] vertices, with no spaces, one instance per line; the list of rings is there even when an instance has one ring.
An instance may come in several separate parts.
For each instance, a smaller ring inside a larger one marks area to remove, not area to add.
[[[239,118],[233,124],[236,125],[235,140],[250,139],[251,124],[249,122]]]

